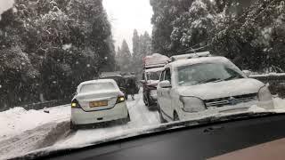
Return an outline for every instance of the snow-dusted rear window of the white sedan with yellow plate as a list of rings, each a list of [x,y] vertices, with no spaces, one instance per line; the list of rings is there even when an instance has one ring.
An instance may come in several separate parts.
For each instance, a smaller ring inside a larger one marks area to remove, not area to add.
[[[81,92],[102,92],[104,90],[114,90],[115,86],[112,83],[96,83],[96,84],[83,84],[80,89]]]

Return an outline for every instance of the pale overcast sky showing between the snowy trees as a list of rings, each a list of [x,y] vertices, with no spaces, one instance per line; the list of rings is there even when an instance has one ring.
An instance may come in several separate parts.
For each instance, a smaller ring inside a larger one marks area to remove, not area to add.
[[[103,0],[103,4],[111,20],[116,48],[125,38],[132,52],[134,28],[139,34],[148,31],[151,35],[150,0]]]

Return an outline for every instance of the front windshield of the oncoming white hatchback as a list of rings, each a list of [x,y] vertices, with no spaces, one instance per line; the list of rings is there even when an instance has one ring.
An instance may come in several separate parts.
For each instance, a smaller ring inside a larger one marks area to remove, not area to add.
[[[243,77],[235,69],[223,63],[196,64],[179,67],[177,70],[179,85],[206,84]]]

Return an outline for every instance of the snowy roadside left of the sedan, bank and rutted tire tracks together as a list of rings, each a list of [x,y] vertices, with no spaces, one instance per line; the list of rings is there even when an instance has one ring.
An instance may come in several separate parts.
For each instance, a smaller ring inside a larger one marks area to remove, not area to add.
[[[69,105],[41,110],[12,108],[0,112],[0,159],[52,146],[69,134]]]

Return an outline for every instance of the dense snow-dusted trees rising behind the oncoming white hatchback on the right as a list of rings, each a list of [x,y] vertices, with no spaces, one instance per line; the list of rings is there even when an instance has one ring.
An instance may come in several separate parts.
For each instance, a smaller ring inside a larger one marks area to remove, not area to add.
[[[283,0],[151,0],[152,49],[166,55],[211,51],[241,68],[284,65]]]

